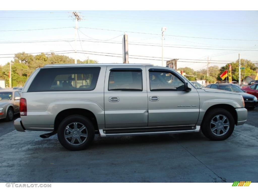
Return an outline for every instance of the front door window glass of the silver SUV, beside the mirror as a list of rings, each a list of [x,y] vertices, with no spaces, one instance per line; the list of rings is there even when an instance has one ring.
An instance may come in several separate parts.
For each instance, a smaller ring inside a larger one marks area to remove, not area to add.
[[[183,91],[184,83],[170,72],[149,72],[150,91]]]

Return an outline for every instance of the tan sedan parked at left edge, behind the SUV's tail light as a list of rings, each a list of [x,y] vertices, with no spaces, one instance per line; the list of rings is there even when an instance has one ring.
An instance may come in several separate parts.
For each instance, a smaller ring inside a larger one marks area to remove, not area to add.
[[[20,90],[0,90],[0,119],[13,120],[20,112]]]

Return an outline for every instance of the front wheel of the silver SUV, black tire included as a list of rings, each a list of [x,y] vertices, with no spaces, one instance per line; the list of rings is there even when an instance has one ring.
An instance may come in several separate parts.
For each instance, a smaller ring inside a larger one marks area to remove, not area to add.
[[[216,121],[218,120],[217,116],[219,116],[220,121]],[[223,116],[226,117],[223,124],[229,125],[229,126],[223,126],[222,124],[222,120],[224,118]],[[212,123],[212,121],[214,122]],[[216,125],[214,124],[215,122],[216,122]],[[216,128],[219,128],[219,129],[216,129]],[[205,114],[203,123],[201,124],[201,131],[203,132],[205,137],[214,141],[220,141],[220,140],[225,140],[229,138],[230,135],[233,133],[234,128],[235,128],[235,121],[231,113],[225,109],[220,109],[220,108],[209,110]],[[224,131],[226,132],[224,133]]]

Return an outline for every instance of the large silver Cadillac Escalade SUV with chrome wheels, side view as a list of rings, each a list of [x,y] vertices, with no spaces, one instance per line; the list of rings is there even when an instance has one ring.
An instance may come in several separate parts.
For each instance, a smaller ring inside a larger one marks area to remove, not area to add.
[[[38,68],[23,87],[18,131],[52,131],[69,150],[95,134],[199,132],[227,139],[247,118],[243,97],[197,89],[178,72],[149,64],[56,64]]]

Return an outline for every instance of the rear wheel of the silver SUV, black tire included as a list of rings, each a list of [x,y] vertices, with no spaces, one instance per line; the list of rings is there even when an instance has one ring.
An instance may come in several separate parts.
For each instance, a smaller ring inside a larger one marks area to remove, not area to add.
[[[74,125],[74,128],[72,128],[73,125]],[[78,125],[80,125],[79,128],[77,128]],[[80,132],[78,130],[82,128],[82,125],[85,126],[86,129]],[[69,126],[68,128],[69,130],[67,129],[67,126]],[[87,134],[87,137],[82,136],[86,134]],[[65,135],[66,136],[72,135],[72,136],[65,137]],[[72,150],[72,151],[84,150],[85,148],[87,148],[92,142],[92,140],[94,139],[94,135],[95,135],[95,131],[94,131],[94,126],[92,122],[88,118],[81,115],[71,115],[66,117],[59,124],[58,130],[57,130],[58,140],[61,143],[61,145],[66,149]],[[75,140],[72,141],[74,138]],[[79,140],[81,140],[81,144]]]

